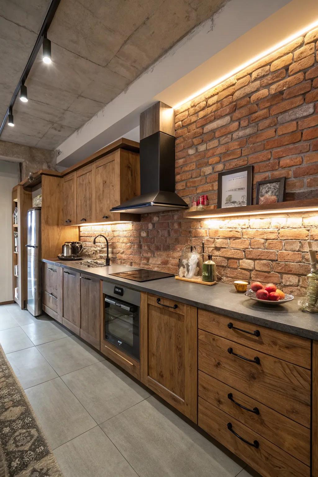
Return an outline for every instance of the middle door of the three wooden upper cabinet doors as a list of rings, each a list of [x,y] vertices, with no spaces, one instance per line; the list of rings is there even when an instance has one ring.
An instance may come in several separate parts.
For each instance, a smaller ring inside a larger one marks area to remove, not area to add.
[[[95,222],[95,164],[76,172],[76,223]]]

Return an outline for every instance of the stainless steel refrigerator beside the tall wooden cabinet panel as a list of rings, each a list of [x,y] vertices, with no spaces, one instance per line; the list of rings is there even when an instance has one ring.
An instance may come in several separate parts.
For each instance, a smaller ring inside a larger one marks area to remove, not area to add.
[[[42,313],[41,207],[28,210],[28,299],[33,316]]]

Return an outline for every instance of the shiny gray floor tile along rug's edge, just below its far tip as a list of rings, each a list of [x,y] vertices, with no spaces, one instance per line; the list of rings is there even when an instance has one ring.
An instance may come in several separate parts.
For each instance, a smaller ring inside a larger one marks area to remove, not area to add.
[[[53,368],[35,346],[9,353],[7,358],[24,389],[57,377]]]

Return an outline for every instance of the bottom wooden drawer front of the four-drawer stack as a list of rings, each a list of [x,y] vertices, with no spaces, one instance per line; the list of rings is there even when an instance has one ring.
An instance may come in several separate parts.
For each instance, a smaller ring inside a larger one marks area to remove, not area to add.
[[[252,444],[257,441],[259,447],[250,446],[236,437],[228,429],[228,424],[231,424],[232,430],[246,441]],[[199,397],[198,406],[198,425],[263,477],[310,476],[310,468],[304,463],[201,397]]]

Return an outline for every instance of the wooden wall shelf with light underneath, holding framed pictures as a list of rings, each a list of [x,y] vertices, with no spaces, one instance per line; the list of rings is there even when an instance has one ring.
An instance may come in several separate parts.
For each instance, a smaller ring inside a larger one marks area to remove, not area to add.
[[[318,213],[318,198],[306,200],[291,200],[278,202],[270,205],[253,205],[245,207],[210,208],[205,210],[188,210],[184,213],[185,218],[223,218],[223,217],[243,217],[243,216],[270,216],[272,214],[294,214],[303,212]]]

